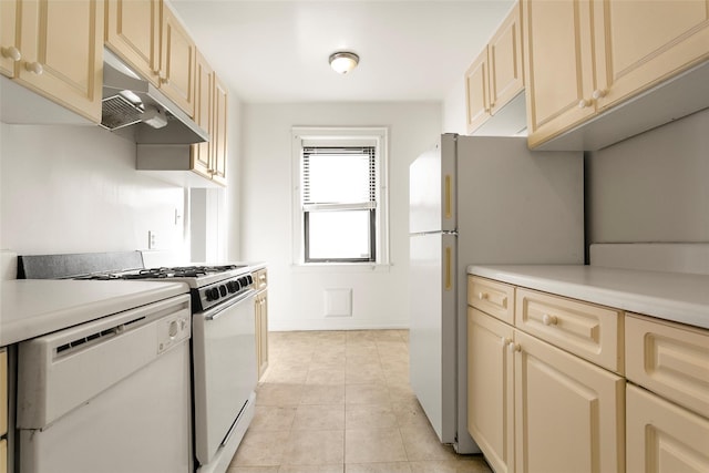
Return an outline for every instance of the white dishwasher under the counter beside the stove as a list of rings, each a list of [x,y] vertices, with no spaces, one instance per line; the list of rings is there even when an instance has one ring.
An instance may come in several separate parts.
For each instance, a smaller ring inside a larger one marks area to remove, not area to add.
[[[21,342],[20,471],[191,472],[191,326],[182,295]]]

